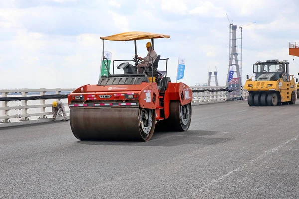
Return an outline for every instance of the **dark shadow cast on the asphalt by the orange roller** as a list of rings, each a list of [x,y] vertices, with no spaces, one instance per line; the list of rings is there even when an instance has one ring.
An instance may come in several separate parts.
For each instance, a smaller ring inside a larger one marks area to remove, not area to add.
[[[186,132],[155,132],[153,137],[148,142],[138,142],[138,141],[77,141],[79,144],[86,145],[111,145],[111,146],[179,146],[183,144],[192,145],[213,145],[219,144],[226,141],[226,138],[214,138],[209,137],[215,135],[219,132],[217,131],[199,131],[199,130],[189,130]]]

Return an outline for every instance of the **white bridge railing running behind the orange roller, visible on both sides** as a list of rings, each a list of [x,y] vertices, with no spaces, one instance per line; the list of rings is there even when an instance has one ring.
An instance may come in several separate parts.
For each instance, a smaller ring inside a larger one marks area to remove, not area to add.
[[[191,86],[192,90],[204,89],[225,89],[225,86]],[[61,94],[65,91],[66,94],[73,91],[75,88],[55,88],[55,89],[0,89],[0,97],[29,97],[29,96],[43,96],[46,92],[55,92]],[[28,94],[35,92],[35,94]],[[36,93],[38,92],[38,93]],[[11,93],[18,93],[9,95]],[[192,105],[200,105],[206,103],[225,102],[227,100],[227,91],[217,92],[193,92]],[[248,92],[242,91],[243,100],[247,99]],[[38,100],[15,100],[2,101],[0,103],[0,127],[34,124],[52,121],[52,102],[62,101],[65,104],[66,113],[69,113],[67,99],[38,99]],[[50,115],[50,116],[49,116]],[[49,117],[48,117],[49,116]],[[58,115],[57,119],[62,119],[62,115]]]

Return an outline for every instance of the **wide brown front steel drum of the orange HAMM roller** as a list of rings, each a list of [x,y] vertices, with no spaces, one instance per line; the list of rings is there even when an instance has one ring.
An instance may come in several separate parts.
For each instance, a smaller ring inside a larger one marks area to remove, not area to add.
[[[71,109],[70,125],[79,140],[149,141],[155,129],[155,110],[139,107]]]

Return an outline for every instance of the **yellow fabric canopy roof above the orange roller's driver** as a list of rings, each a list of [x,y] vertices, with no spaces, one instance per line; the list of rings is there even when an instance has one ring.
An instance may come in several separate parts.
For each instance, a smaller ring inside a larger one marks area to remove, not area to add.
[[[132,41],[141,39],[157,39],[157,38],[170,38],[170,35],[156,34],[150,32],[124,32],[107,37],[100,37],[103,40],[110,41]]]

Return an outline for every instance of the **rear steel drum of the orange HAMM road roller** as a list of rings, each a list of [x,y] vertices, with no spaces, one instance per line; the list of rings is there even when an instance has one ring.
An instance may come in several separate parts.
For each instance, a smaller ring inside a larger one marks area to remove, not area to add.
[[[187,131],[191,124],[192,106],[188,103],[184,106],[179,101],[170,101],[170,115],[168,128],[172,131]]]

